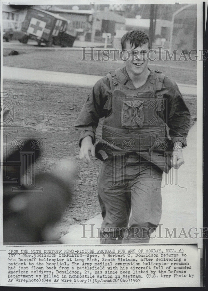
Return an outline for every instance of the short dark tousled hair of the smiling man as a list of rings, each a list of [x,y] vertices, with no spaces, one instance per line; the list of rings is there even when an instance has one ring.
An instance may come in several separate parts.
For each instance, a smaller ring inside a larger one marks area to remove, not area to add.
[[[149,36],[142,30],[132,30],[126,32],[121,38],[121,48],[126,48],[126,42],[129,40],[131,47],[135,49],[145,43],[148,43],[148,47],[150,49],[150,40]]]

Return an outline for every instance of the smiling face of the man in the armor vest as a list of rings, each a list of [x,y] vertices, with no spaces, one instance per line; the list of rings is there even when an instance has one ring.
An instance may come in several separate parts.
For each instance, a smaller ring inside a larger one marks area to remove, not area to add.
[[[128,72],[131,72],[134,75],[140,75],[147,70],[147,52],[149,51],[148,43],[132,49],[130,43],[126,42],[126,51],[129,53],[124,51],[123,59],[127,59],[125,64]]]

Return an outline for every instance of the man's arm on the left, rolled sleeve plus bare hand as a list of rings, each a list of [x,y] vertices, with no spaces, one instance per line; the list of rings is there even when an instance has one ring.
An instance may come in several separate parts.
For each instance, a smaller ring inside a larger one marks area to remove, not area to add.
[[[103,117],[103,106],[110,93],[108,78],[100,79],[88,95],[75,123],[75,130],[79,135],[79,157],[86,164],[90,162],[89,152],[95,157],[95,132],[99,119]]]

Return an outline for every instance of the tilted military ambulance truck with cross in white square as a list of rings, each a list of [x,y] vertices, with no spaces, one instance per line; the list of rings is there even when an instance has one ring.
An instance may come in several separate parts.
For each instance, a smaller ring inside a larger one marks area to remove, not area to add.
[[[29,39],[37,40],[39,46],[60,45],[72,47],[77,36],[75,28],[67,19],[49,11],[29,8],[22,23],[21,31],[25,32],[19,41],[27,43]]]

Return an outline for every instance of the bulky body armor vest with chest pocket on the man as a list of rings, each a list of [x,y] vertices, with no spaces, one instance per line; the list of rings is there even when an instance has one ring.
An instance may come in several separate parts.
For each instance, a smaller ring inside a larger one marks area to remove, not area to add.
[[[156,141],[164,139],[164,100],[155,94],[162,89],[164,75],[151,71],[146,83],[129,89],[119,81],[120,69],[107,74],[112,90],[104,109],[110,109],[103,123],[102,138],[122,150],[151,150]]]

